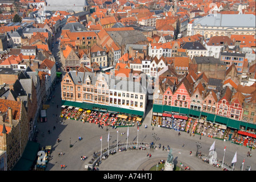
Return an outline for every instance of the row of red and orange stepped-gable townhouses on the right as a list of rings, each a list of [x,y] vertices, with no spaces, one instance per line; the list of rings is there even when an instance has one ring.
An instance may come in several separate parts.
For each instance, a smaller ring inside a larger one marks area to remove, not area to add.
[[[243,93],[231,90],[229,86],[223,86],[221,92],[209,89],[207,81],[209,80],[204,73],[189,73],[177,85],[170,77],[165,77],[165,80],[160,77],[155,85],[153,104],[202,111],[238,121],[256,122],[255,111],[251,110],[255,109],[255,99],[251,98],[255,96],[255,91],[245,100]],[[245,106],[247,110],[251,107],[250,113],[243,111]]]

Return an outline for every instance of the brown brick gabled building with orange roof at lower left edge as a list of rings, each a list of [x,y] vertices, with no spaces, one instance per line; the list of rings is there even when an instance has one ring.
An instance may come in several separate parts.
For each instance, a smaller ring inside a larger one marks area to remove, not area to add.
[[[1,99],[0,107],[0,149],[6,152],[2,165],[7,171],[15,166],[25,150],[29,140],[29,119],[22,101]]]

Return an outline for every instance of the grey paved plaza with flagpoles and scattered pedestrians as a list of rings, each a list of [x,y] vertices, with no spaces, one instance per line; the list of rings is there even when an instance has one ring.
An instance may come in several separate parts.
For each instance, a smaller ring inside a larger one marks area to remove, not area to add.
[[[71,119],[59,118],[61,112],[61,96],[60,96],[60,84],[56,85],[56,89],[53,93],[54,98],[50,101],[50,108],[47,109],[47,122],[38,123],[38,143],[42,146],[52,146],[52,153],[50,162],[47,164],[47,171],[59,171],[61,170],[61,164],[65,164],[65,170],[69,171],[85,171],[85,164],[88,164],[91,160],[93,153],[101,150],[101,136],[102,136],[102,150],[107,149],[108,142],[107,137],[110,133],[110,146],[116,146],[117,144],[117,129],[104,126],[103,129],[99,128],[94,123],[75,121]],[[178,131],[163,129],[161,127],[150,126],[152,109],[146,111],[147,115],[142,126],[139,128],[138,143],[151,143],[153,142],[153,134],[156,134],[159,140],[155,140],[155,145],[161,143],[162,146],[167,145],[173,149],[174,163],[179,165],[180,163],[189,166],[191,171],[220,171],[221,168],[213,167],[210,164],[203,162],[195,156],[197,147],[195,142],[200,142],[201,147],[199,151],[202,154],[208,155],[209,148],[213,144],[214,139],[199,135],[190,136],[185,132],[181,132],[181,136],[178,136]],[[58,107],[57,107],[58,105]],[[56,117],[57,115],[57,117]],[[60,121],[62,123],[60,123]],[[144,125],[147,124],[147,129]],[[55,130],[53,127],[55,126]],[[47,132],[50,130],[50,134]],[[127,127],[118,127],[118,143],[123,143],[126,146],[127,142]],[[45,136],[42,137],[41,133]],[[125,133],[121,135],[121,133]],[[82,140],[78,140],[78,136],[82,137]],[[56,140],[60,139],[57,143]],[[137,142],[137,127],[129,127],[128,143]],[[70,144],[73,147],[70,147]],[[223,149],[226,146],[225,163],[231,164],[235,151],[237,151],[237,163],[234,170],[241,170],[241,164],[245,159],[243,170],[247,166],[251,166],[251,169],[256,169],[255,150],[251,151],[252,157],[247,158],[248,148],[245,146],[238,146],[231,142],[224,142],[223,140],[215,140],[215,151],[217,152],[217,158],[219,161],[223,159]],[[189,152],[192,151],[192,155]],[[63,152],[63,156],[58,154]],[[152,156],[149,158],[147,153]],[[166,150],[154,149],[150,150],[127,150],[123,152],[117,152],[117,154],[110,155],[106,160],[102,160],[99,165],[100,171],[141,171],[142,169],[149,170],[152,166],[157,164],[159,160],[167,160],[169,152]],[[86,160],[81,160],[81,156],[87,156]],[[62,169],[64,170],[64,169]]]

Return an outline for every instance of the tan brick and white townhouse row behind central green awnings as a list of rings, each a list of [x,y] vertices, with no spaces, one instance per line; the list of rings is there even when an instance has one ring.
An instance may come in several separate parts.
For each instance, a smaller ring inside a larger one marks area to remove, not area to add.
[[[85,102],[142,111],[147,104],[146,83],[118,80],[105,73],[66,72],[61,82],[64,101]]]

